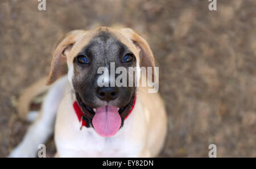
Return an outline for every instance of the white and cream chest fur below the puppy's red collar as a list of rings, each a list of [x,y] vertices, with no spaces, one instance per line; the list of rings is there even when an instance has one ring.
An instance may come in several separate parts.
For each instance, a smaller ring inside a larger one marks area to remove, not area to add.
[[[114,137],[101,137],[93,128],[82,127],[65,95],[57,112],[55,143],[60,157],[140,157],[146,146],[147,122],[140,100]]]

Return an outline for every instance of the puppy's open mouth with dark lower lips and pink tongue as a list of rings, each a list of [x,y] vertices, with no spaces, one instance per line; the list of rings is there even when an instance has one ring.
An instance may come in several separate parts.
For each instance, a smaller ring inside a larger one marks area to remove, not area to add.
[[[117,134],[123,125],[125,117],[129,114],[134,104],[135,94],[130,102],[122,108],[114,107],[113,105],[90,108],[82,102],[79,94],[76,94],[76,98],[85,115],[86,122],[89,122],[100,136],[112,137]]]

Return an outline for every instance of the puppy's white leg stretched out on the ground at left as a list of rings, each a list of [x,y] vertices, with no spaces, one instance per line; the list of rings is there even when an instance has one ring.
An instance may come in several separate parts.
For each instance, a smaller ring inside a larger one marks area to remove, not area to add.
[[[9,157],[36,157],[38,146],[44,144],[53,133],[56,112],[65,94],[67,84],[66,76],[53,84],[44,98],[38,118],[29,127],[22,142],[11,152]]]

